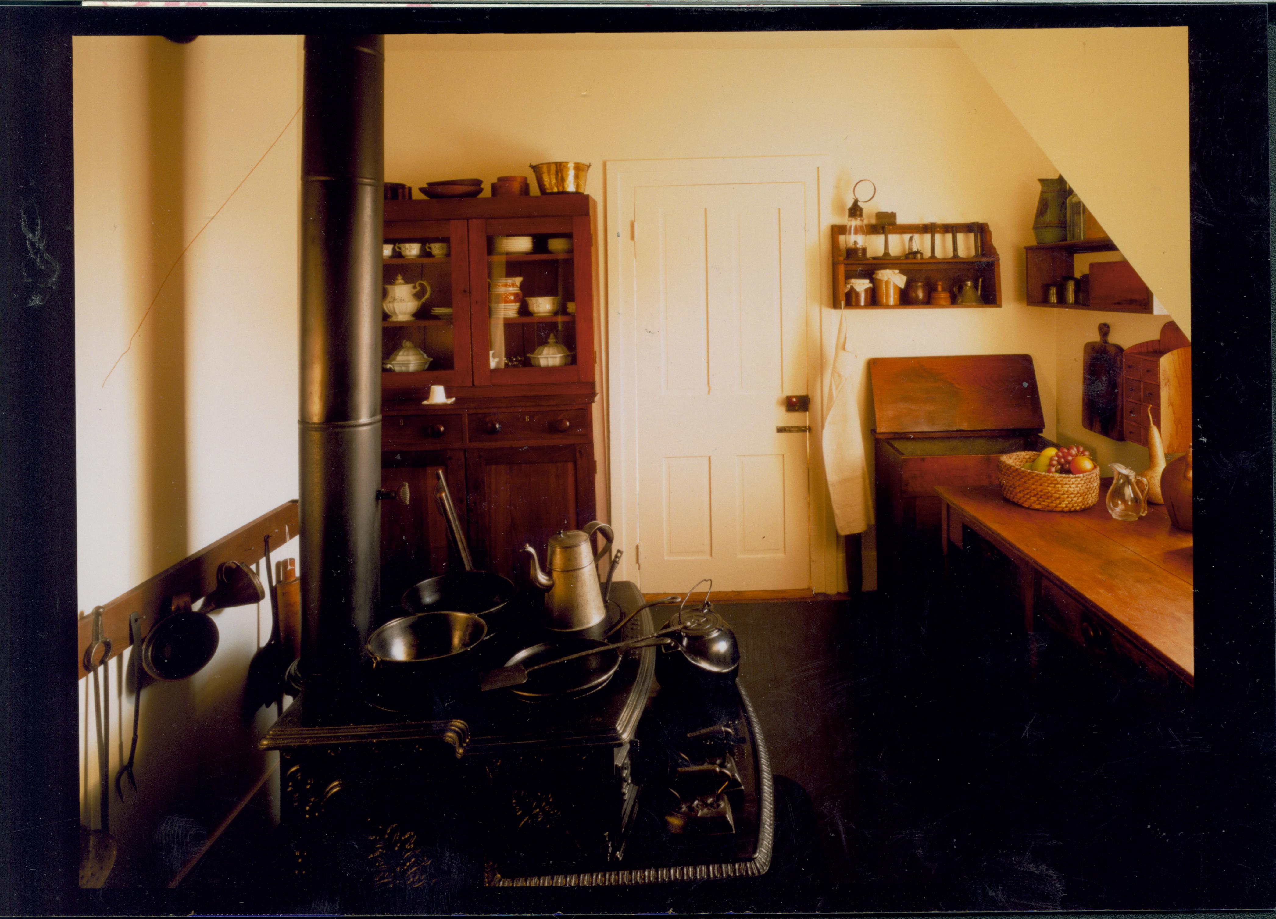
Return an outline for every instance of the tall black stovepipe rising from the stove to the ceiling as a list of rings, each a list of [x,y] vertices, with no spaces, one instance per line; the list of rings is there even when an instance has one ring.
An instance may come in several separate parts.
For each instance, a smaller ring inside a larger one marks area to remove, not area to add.
[[[379,592],[382,36],[306,36],[301,135],[301,679],[350,697]]]

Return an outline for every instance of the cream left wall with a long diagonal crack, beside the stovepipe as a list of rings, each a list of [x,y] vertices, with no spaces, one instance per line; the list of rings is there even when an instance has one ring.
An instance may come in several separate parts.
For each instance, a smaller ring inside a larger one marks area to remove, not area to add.
[[[82,610],[297,495],[300,120],[285,126],[299,59],[291,36],[73,41]],[[143,691],[142,791],[112,802],[124,878],[156,879],[140,865],[163,818],[212,830],[265,768],[254,743],[271,719],[244,724],[240,697],[269,610],[214,618],[209,666]],[[131,685],[117,692],[128,655],[117,660],[112,777],[134,702]],[[82,818],[96,826],[96,757],[80,753]]]

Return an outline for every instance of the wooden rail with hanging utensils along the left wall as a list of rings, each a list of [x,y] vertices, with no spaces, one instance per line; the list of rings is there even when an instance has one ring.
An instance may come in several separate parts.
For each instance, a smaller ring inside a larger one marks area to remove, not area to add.
[[[142,614],[142,636],[151,631],[161,614],[168,610],[175,594],[189,594],[191,602],[208,595],[217,585],[217,565],[222,562],[240,562],[251,565],[265,555],[265,537],[271,537],[272,550],[297,535],[297,502],[285,502],[273,511],[262,514],[255,521],[245,523],[239,530],[222,536],[188,555],[181,562],[170,565],[153,578],[125,591],[115,600],[103,604],[102,632],[111,639],[111,657],[122,654],[129,646],[129,614]],[[281,557],[282,558],[282,557]],[[264,578],[263,578],[264,583]],[[84,670],[84,651],[93,636],[93,616],[79,618],[79,655],[75,669],[78,678],[87,676]]]

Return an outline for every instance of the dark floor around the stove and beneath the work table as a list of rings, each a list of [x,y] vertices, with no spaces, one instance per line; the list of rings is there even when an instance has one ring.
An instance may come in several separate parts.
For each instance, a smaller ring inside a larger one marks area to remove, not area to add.
[[[718,610],[739,637],[740,679],[777,776],[777,846],[766,877],[602,891],[404,892],[384,909],[1212,905],[1199,901],[1208,895],[1189,813],[1199,740],[1184,698],[1110,680],[1060,642],[1023,634],[1022,619],[986,591],[963,600],[938,577],[919,577],[894,597]],[[1030,641],[1040,659],[1035,678]],[[228,911],[351,906],[295,902],[304,893],[282,892],[287,864],[269,850],[269,833],[249,836],[214,848],[184,883],[185,896],[204,910],[213,902]]]

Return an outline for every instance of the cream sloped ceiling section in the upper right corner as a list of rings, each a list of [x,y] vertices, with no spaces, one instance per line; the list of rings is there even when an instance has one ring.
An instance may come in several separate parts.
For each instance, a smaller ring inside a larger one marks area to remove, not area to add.
[[[1191,337],[1187,28],[951,34]]]

